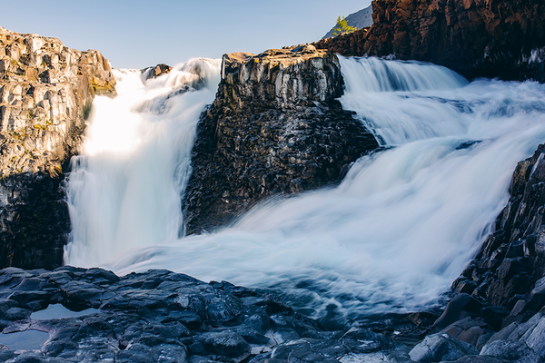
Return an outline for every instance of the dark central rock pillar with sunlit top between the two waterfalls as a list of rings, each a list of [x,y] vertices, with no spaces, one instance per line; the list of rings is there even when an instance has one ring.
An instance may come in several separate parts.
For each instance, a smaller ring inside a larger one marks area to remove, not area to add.
[[[335,101],[342,85],[337,57],[312,45],[224,55],[193,148],[187,233],[210,231],[274,194],[338,182],[351,162],[377,148]]]

